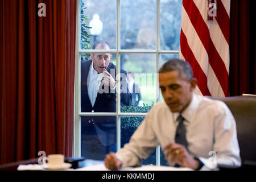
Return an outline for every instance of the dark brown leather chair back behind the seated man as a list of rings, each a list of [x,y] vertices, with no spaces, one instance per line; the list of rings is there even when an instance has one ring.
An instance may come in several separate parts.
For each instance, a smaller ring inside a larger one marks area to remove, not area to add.
[[[242,165],[248,167],[256,163],[256,96],[209,98],[225,102],[236,119]]]

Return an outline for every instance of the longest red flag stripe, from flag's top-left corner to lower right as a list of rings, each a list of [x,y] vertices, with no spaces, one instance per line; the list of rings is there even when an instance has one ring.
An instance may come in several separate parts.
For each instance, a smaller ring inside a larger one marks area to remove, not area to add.
[[[183,7],[208,53],[209,63],[220,82],[225,96],[228,96],[228,71],[226,71],[225,64],[210,39],[207,25],[193,1],[183,1]]]

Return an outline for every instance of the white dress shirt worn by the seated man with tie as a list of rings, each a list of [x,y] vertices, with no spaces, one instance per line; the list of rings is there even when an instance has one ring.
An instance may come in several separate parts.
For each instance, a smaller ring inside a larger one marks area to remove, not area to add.
[[[201,169],[216,169],[217,164],[241,166],[236,122],[224,102],[193,94],[181,115],[185,119],[189,154],[204,163]],[[152,106],[130,142],[117,152],[122,167],[141,164],[141,159],[148,158],[159,144],[165,147],[175,143],[178,116],[164,101]]]

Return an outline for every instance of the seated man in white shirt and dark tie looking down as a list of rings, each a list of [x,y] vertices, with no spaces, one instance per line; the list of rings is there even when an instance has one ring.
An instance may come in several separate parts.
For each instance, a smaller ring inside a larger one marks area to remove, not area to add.
[[[196,83],[188,62],[167,61],[159,70],[164,101],[152,106],[129,143],[106,155],[105,166],[140,166],[159,144],[170,166],[196,170],[217,169],[218,164],[241,166],[231,111],[224,102],[194,94]]]

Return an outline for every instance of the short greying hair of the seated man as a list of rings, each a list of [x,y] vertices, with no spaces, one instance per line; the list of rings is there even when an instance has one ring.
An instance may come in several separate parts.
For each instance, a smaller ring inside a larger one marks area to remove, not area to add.
[[[159,73],[166,73],[170,71],[179,71],[179,76],[186,81],[193,78],[193,71],[191,65],[187,61],[180,59],[170,59],[162,65]]]

